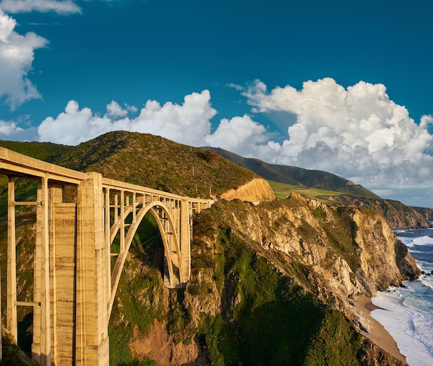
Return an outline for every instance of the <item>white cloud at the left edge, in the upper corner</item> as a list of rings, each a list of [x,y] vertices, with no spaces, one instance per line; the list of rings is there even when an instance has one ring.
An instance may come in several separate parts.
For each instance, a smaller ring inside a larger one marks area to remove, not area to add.
[[[37,88],[28,79],[35,49],[46,46],[48,41],[28,32],[14,32],[17,22],[0,10],[0,98],[15,109],[29,99],[40,98]]]

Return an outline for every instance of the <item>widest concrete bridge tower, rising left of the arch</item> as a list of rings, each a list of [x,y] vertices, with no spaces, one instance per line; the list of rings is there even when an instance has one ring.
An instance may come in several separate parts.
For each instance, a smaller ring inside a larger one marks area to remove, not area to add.
[[[109,365],[109,249],[102,192],[102,175],[87,173],[78,192],[77,365]]]

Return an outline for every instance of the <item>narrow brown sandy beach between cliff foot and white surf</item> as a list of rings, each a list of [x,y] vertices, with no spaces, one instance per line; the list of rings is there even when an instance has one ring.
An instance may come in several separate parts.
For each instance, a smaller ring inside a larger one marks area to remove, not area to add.
[[[369,320],[370,331],[364,332],[362,331],[362,335],[369,338],[371,342],[376,343],[380,348],[384,351],[387,351],[391,356],[394,356],[398,360],[407,364],[406,357],[400,352],[400,349],[397,347],[397,343],[394,338],[391,337],[391,334],[380,324],[376,319],[371,316],[371,311],[374,309],[382,309],[371,302],[371,298],[367,296],[360,296],[353,300],[353,303],[360,311],[360,313],[364,314],[365,317]]]

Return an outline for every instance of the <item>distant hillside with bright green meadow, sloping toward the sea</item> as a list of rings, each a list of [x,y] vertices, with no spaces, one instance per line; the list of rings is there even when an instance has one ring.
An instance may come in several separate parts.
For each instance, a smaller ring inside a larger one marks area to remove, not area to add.
[[[296,166],[267,164],[261,160],[241,157],[221,148],[206,148],[250,169],[266,180],[273,181],[270,184],[279,198],[295,191],[331,205],[364,206],[374,209],[387,218],[388,224],[393,229],[429,227],[430,211],[426,211],[427,209],[414,209],[396,200],[385,200],[360,184],[353,184],[338,175]]]

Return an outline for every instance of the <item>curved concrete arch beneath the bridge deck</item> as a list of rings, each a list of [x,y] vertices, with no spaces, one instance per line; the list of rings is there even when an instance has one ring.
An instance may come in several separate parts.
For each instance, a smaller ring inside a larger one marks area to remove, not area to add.
[[[145,218],[147,213],[151,213],[154,216],[158,229],[160,231],[161,238],[163,240],[164,255],[167,258],[167,273],[163,273],[169,281],[169,287],[176,287],[176,285],[186,282],[187,279],[183,278],[183,262],[181,258],[181,246],[179,242],[179,236],[176,230],[174,218],[170,214],[168,209],[163,202],[154,201],[149,202],[144,207],[141,207],[136,213],[136,219],[131,223],[127,235],[125,235],[125,249],[122,253],[119,253],[118,260],[116,260],[113,273],[111,274],[111,296],[109,300],[109,314],[113,308],[114,299],[116,297],[116,291],[118,289],[120,276],[122,275],[122,269],[125,265],[125,260],[131,247],[131,243],[134,235],[136,234],[138,227],[142,220]],[[166,224],[167,222],[167,224]],[[113,238],[113,235],[111,235]],[[176,269],[174,269],[176,267]]]

